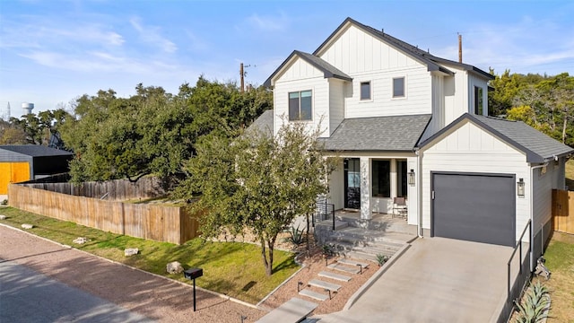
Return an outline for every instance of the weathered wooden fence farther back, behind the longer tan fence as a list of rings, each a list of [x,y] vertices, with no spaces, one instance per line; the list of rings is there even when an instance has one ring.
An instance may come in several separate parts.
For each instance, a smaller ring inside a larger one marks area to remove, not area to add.
[[[149,198],[165,194],[161,187],[161,180],[156,177],[144,177],[131,182],[127,179],[114,179],[104,182],[46,182],[46,180],[30,180],[21,183],[29,188],[39,188],[51,192],[63,193],[71,196],[85,196],[107,199],[109,201],[126,201],[134,198]]]

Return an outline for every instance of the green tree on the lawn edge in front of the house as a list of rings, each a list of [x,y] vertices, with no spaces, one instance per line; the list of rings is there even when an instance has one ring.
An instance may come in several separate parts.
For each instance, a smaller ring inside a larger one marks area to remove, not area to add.
[[[204,137],[187,164],[189,178],[178,188],[186,199],[201,192],[193,208],[207,210],[199,219],[204,237],[248,229],[261,245],[266,274],[272,275],[277,235],[295,217],[312,213],[317,196],[327,193],[334,162],[322,155],[317,135],[296,123],[274,137]]]

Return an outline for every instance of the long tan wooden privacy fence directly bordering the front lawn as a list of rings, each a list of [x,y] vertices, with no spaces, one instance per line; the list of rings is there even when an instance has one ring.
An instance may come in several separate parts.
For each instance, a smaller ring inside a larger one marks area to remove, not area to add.
[[[8,191],[8,201],[13,207],[101,231],[177,244],[198,235],[196,219],[183,207],[69,196],[17,184],[10,184]]]

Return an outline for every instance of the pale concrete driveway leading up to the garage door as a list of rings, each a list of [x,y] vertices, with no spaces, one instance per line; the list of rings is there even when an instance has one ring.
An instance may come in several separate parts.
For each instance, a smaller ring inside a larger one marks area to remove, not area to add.
[[[352,305],[320,322],[491,322],[506,299],[512,248],[423,238]]]

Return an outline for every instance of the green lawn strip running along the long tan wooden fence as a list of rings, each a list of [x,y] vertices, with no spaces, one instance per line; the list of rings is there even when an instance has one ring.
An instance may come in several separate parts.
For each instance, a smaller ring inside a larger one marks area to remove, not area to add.
[[[100,231],[12,207],[1,210],[7,216],[2,221],[4,224],[20,229],[22,223],[30,223],[34,228],[28,231],[40,237],[187,284],[191,284],[191,281],[184,279],[183,275],[167,274],[166,265],[178,261],[185,268],[201,267],[204,276],[196,280],[198,286],[250,303],[261,301],[299,269],[293,253],[275,250],[274,275],[267,277],[261,249],[248,243],[194,239],[176,245]],[[78,237],[86,237],[90,242],[75,245],[72,241]],[[126,258],[126,248],[137,248],[140,254]]]

